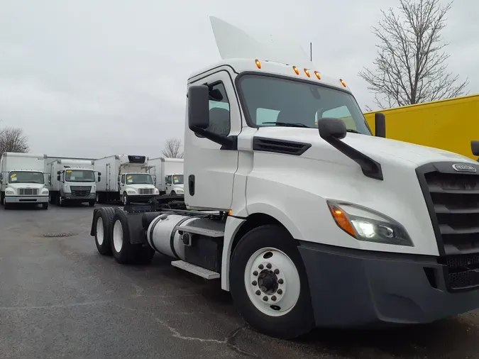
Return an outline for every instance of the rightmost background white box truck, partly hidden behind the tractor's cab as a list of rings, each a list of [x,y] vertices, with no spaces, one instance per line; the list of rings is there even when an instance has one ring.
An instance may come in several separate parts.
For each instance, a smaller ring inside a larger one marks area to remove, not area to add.
[[[182,158],[150,158],[148,166],[150,175],[153,176],[155,187],[160,194],[184,194],[184,176],[183,176]]]

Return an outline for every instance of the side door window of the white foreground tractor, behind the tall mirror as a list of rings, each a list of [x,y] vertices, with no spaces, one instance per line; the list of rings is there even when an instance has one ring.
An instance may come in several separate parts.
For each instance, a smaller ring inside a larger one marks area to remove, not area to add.
[[[207,130],[221,136],[228,136],[231,130],[231,116],[228,95],[226,95],[223,82],[213,84],[209,94],[209,126]]]

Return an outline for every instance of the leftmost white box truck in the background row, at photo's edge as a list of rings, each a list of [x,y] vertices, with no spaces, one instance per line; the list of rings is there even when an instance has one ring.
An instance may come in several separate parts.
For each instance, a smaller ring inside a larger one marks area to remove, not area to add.
[[[4,152],[0,160],[0,204],[41,204],[48,209],[48,188],[45,183],[45,155]]]

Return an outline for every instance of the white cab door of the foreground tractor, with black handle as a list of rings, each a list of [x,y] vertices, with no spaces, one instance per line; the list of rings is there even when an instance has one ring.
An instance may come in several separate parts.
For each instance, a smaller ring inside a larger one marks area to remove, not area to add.
[[[207,84],[209,131],[221,136],[238,136],[241,111],[233,87],[233,73],[220,67],[200,74],[190,84]],[[186,111],[188,116],[188,111]],[[187,121],[188,123],[188,121]],[[198,209],[228,211],[233,201],[233,177],[238,170],[238,150],[197,135],[185,126],[185,201]]]

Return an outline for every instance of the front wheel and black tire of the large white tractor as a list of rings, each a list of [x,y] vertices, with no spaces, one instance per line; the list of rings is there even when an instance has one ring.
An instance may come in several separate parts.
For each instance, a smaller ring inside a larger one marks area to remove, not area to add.
[[[306,270],[284,228],[246,233],[231,255],[229,282],[237,310],[255,331],[292,339],[314,328]]]

